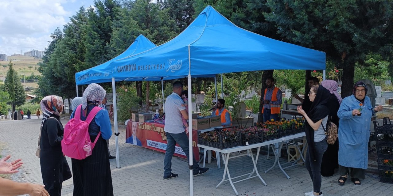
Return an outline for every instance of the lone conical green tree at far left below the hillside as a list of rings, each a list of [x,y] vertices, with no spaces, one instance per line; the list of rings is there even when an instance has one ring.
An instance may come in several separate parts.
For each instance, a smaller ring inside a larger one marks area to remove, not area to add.
[[[11,104],[12,111],[18,105],[23,105],[26,101],[26,95],[22,83],[20,83],[20,77],[13,68],[13,63],[10,61],[8,64],[8,71],[6,80],[4,81],[5,91],[9,94],[9,103]]]

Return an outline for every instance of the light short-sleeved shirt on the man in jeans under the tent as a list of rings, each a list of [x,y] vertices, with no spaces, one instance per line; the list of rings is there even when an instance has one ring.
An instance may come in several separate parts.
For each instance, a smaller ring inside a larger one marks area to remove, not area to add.
[[[180,113],[180,111],[185,110],[182,104],[184,104],[184,101],[178,94],[172,93],[167,96],[167,100],[165,100],[165,132],[182,133],[185,131],[182,123],[182,113]]]

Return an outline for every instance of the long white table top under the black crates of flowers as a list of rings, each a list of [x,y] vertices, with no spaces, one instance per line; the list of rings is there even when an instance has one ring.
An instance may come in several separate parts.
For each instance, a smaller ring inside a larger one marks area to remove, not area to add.
[[[292,140],[295,138],[301,138],[305,135],[306,135],[305,132],[301,132],[298,134],[289,135],[289,136],[277,138],[274,140],[268,140],[266,142],[254,143],[254,144],[246,145],[246,146],[236,146],[236,147],[227,148],[227,149],[218,149],[218,148],[214,148],[214,147],[210,147],[210,146],[206,146],[206,145],[201,145],[201,144],[198,144],[198,147],[205,148],[205,149],[212,150],[212,151],[221,152],[221,153],[232,153],[232,152],[244,151],[247,149],[257,148],[257,147],[261,147],[261,146],[266,146],[266,145],[270,145],[270,144],[274,144],[274,143],[280,143],[280,142]]]

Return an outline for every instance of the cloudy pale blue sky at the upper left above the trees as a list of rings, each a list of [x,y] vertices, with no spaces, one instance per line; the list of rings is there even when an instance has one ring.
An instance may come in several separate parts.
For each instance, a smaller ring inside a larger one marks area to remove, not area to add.
[[[0,0],[0,54],[44,50],[56,27],[94,0]]]

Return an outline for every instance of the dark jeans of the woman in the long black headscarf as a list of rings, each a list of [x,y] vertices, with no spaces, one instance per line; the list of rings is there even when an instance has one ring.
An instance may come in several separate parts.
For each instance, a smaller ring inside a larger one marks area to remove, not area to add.
[[[307,149],[307,156],[305,166],[309,171],[312,185],[314,186],[314,192],[321,192],[321,163],[323,153],[325,153],[327,149],[327,141],[326,138],[321,142],[314,142],[314,151],[315,151],[315,162],[310,160],[310,148]]]

